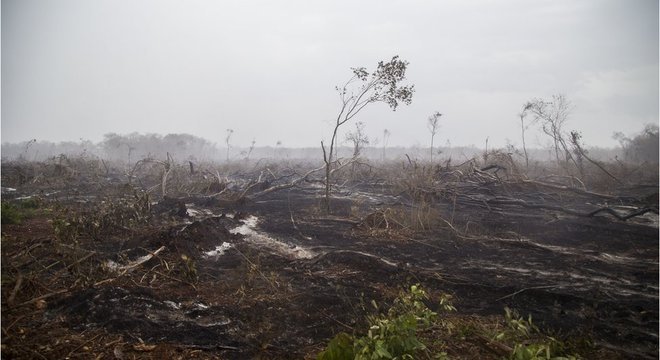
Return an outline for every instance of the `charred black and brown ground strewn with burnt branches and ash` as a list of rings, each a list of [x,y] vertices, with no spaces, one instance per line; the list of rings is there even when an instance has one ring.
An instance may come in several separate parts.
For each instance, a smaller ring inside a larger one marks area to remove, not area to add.
[[[657,186],[599,198],[502,181],[419,204],[361,181],[335,189],[331,214],[315,183],[146,203],[110,177],[13,187],[3,201],[38,206],[2,226],[3,358],[312,358],[416,283],[451,294],[457,324],[509,307],[588,342],[586,358],[658,356]],[[502,357],[469,335],[441,348]]]

